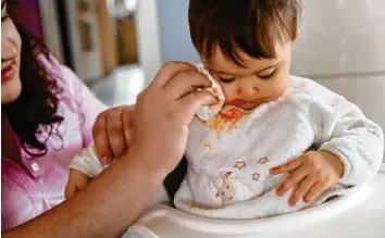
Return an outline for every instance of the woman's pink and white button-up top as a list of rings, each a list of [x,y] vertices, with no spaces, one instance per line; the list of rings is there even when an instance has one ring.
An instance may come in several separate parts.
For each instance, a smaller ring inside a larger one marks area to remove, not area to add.
[[[1,156],[1,231],[64,200],[70,161],[91,141],[94,122],[105,110],[71,70],[63,65],[55,68],[53,73],[61,75],[64,88],[59,107],[64,117],[59,128],[62,140],[51,137],[41,158],[30,158],[21,149],[25,167]]]

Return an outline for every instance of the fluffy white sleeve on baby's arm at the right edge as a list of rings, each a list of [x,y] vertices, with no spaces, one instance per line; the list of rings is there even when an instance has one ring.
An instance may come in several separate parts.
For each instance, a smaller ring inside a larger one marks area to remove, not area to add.
[[[328,151],[341,160],[344,174],[340,184],[356,186],[367,183],[375,176],[383,160],[383,130],[356,104],[319,87],[313,93],[315,107],[310,113],[313,122],[319,122],[315,130],[319,150]]]

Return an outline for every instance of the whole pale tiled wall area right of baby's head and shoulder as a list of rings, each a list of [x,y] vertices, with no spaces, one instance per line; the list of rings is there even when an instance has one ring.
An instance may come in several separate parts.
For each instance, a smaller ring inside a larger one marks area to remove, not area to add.
[[[303,0],[291,72],[345,96],[385,130],[385,1]]]

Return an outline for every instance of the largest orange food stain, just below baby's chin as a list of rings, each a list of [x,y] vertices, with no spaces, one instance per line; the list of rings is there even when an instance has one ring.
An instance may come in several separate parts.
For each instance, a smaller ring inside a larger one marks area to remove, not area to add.
[[[220,139],[223,131],[232,133],[231,130],[236,129],[236,124],[244,116],[245,113],[235,108],[231,108],[225,112],[218,113],[209,126],[216,133],[216,138]]]

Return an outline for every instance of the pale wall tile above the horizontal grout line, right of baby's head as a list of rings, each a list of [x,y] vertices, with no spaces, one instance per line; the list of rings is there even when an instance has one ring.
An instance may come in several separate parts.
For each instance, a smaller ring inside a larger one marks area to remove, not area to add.
[[[302,0],[293,71],[385,74],[384,0]]]

